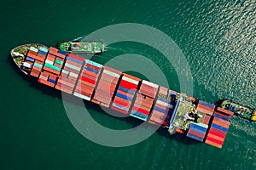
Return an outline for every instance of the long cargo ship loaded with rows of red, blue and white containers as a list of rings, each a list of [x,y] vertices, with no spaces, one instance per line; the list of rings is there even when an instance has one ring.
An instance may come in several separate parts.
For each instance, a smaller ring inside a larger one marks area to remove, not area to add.
[[[14,48],[11,57],[27,76],[51,88],[133,116],[170,134],[222,148],[233,110],[177,93],[154,82],[42,44]]]

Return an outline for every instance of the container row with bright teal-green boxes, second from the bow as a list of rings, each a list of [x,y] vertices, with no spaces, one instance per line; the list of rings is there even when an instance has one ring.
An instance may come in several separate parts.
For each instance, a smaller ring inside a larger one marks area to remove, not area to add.
[[[66,53],[59,52],[57,48],[49,48],[49,53],[44,61],[43,71],[40,74],[38,82],[49,87],[55,87],[57,77],[61,74],[65,58]]]

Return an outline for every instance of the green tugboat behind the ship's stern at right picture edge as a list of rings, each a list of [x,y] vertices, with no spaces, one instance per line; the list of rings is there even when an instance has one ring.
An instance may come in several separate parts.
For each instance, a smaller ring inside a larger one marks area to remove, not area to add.
[[[250,121],[256,121],[256,111],[255,109],[247,106],[241,105],[237,102],[234,102],[230,99],[222,99],[218,101],[219,105],[223,109],[234,112],[236,116],[240,116],[242,118],[248,119]]]

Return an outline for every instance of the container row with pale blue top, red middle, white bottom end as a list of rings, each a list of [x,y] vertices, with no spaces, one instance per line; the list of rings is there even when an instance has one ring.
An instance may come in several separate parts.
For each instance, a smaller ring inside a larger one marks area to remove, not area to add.
[[[102,65],[86,59],[74,95],[90,101],[101,71]]]

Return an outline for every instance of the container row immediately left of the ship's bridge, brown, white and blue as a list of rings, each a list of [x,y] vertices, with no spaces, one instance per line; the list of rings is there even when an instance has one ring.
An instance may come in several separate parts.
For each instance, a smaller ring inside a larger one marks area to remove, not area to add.
[[[165,127],[172,113],[176,94],[177,93],[172,90],[160,87],[158,98],[148,122]]]

